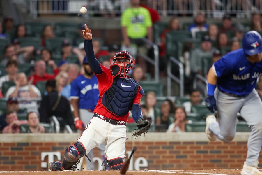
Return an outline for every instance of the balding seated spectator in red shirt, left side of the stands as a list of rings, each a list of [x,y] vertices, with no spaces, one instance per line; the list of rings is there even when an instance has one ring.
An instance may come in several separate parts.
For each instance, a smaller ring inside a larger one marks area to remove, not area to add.
[[[53,74],[47,74],[46,73],[46,66],[44,60],[39,60],[35,64],[35,74],[30,76],[28,79],[31,80],[33,78],[33,85],[36,85],[38,81],[47,81],[47,80],[52,80],[55,78],[56,74],[59,73],[59,70],[57,67],[53,69],[54,75]]]

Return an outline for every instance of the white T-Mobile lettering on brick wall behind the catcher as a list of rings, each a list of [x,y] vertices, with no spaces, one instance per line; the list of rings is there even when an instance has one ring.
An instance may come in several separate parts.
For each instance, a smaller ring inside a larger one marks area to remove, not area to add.
[[[131,151],[127,151],[126,152],[128,154],[128,157],[130,156],[131,154]],[[48,162],[44,162],[45,160],[45,157],[48,156]],[[42,168],[47,168],[48,167],[48,164],[50,162],[53,162],[54,161],[54,156],[57,157],[58,161],[62,161],[61,160],[61,153],[59,151],[56,151],[56,152],[42,152],[41,153],[41,167]],[[128,159],[128,157],[126,157],[126,160]],[[80,159],[80,163],[83,165],[83,158],[82,157]],[[103,160],[100,158],[100,157],[93,157],[93,161],[92,162],[98,162],[98,169],[97,170],[103,170],[103,167],[100,166],[102,165],[102,162]],[[85,166],[83,166],[85,167]],[[129,164],[129,168],[128,170],[141,170],[141,168],[144,168],[144,170],[147,170],[147,167],[148,167],[148,162],[146,160],[146,158],[144,157],[138,157],[135,161],[134,161],[134,157],[132,156],[131,160],[130,160],[130,164]],[[82,169],[81,165],[80,164],[77,164],[77,168],[78,169]],[[48,169],[48,171],[50,171],[50,169]]]

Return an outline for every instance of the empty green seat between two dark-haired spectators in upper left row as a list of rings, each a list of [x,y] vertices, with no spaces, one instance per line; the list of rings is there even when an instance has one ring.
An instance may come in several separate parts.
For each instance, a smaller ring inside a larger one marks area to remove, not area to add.
[[[51,23],[49,22],[26,22],[25,26],[26,26],[26,31],[27,34],[29,35],[38,35],[41,34],[43,28],[46,25],[51,25]]]

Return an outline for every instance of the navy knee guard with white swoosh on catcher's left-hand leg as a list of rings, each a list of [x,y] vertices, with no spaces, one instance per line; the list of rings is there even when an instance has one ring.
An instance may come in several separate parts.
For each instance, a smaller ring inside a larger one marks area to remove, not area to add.
[[[74,145],[69,146],[65,150],[64,159],[67,162],[76,162],[78,159],[86,154],[86,149],[81,142],[77,142]]]

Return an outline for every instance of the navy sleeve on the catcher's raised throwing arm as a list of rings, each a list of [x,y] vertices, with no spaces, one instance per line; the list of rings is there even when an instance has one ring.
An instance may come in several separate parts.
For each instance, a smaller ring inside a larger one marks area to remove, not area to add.
[[[95,74],[102,74],[103,70],[100,66],[100,62],[95,58],[94,50],[93,50],[93,44],[92,40],[85,40],[84,41],[84,48],[86,51],[86,58],[88,61],[88,64]]]

